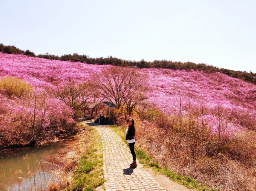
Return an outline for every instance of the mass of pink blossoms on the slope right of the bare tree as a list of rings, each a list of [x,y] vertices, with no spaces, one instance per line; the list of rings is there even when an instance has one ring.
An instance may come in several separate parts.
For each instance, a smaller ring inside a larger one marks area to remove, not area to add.
[[[148,102],[167,115],[185,117],[204,110],[204,120],[214,133],[226,135],[256,126],[256,86],[223,73],[142,69],[149,75]],[[181,104],[181,107],[180,107]],[[201,114],[202,115],[202,114]],[[247,124],[247,125],[245,125]]]

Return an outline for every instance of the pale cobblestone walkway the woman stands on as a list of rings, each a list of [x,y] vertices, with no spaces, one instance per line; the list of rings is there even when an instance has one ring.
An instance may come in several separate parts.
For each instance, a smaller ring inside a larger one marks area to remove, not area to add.
[[[142,164],[138,161],[136,168],[130,168],[132,154],[119,135],[107,128],[107,126],[100,126],[96,123],[89,125],[94,125],[93,127],[101,135],[103,145],[103,176],[106,180],[104,183],[106,191],[166,191],[149,172],[143,169]]]

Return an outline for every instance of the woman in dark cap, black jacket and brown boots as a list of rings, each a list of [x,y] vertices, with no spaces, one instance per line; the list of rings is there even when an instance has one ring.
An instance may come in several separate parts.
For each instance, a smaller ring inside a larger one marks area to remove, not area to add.
[[[135,144],[135,140],[134,140],[134,136],[135,136],[134,120],[129,119],[129,120],[127,120],[127,123],[128,123],[129,126],[126,129],[125,140],[127,140],[128,144],[129,144],[130,151],[131,151],[132,157],[133,157],[133,162],[130,164],[130,167],[136,167],[137,166],[136,154],[134,152],[134,144]]]

